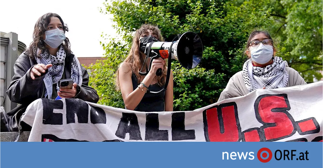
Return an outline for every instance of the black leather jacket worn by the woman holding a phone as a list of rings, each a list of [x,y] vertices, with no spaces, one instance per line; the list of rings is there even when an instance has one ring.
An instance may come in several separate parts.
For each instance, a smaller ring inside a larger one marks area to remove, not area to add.
[[[73,58],[73,54],[67,55],[65,58],[64,79],[71,77],[71,60]],[[42,75],[35,80],[30,77],[30,70],[36,64],[36,60],[31,59],[25,52],[18,57],[14,64],[14,76],[7,89],[7,95],[12,102],[23,105],[18,108],[26,107],[38,98],[44,98],[45,84],[43,79],[45,75]],[[88,86],[89,74],[83,67],[82,76],[83,83],[81,87],[78,86],[78,92],[75,98],[97,103],[99,101],[99,96],[93,88]],[[7,114],[8,116],[13,116],[17,111],[19,111],[19,109],[11,110]]]

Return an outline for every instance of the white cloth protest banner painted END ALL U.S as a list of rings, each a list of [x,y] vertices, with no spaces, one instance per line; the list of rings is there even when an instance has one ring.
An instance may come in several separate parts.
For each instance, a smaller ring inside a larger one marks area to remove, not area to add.
[[[323,81],[257,89],[193,111],[137,112],[79,99],[38,99],[28,141],[321,141]]]

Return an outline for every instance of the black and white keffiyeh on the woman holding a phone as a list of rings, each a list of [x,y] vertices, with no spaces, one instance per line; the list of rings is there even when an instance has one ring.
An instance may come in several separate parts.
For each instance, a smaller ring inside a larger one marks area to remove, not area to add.
[[[39,49],[38,49],[39,50]],[[57,90],[59,89],[58,81],[62,78],[64,67],[65,67],[65,57],[66,53],[64,48],[60,46],[59,50],[57,51],[57,55],[53,56],[44,51],[40,54],[41,58],[36,57],[36,62],[38,64],[53,64],[51,68],[48,68],[48,73],[45,74],[44,83],[45,83],[45,98],[52,98],[53,93],[53,84],[57,83]],[[72,68],[71,68],[71,78],[75,83],[79,86],[82,85],[82,69],[81,65],[78,61],[78,58],[74,56],[72,60]]]

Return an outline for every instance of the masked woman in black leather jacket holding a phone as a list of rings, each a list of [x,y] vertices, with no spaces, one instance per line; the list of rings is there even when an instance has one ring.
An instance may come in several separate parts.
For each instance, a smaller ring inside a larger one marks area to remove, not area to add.
[[[67,25],[58,14],[47,13],[37,20],[33,41],[14,64],[14,76],[7,95],[12,102],[21,105],[8,112],[9,116],[19,120],[19,115],[38,98],[78,98],[98,102],[97,92],[88,86],[87,71],[70,50],[69,40],[65,37],[67,31]],[[72,89],[60,89],[61,79],[73,79]]]

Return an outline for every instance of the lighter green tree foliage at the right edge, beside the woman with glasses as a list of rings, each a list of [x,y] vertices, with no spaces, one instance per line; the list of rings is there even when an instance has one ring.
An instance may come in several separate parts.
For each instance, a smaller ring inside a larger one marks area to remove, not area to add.
[[[280,39],[280,56],[307,82],[321,79],[323,70],[323,1],[272,0],[272,26]]]

